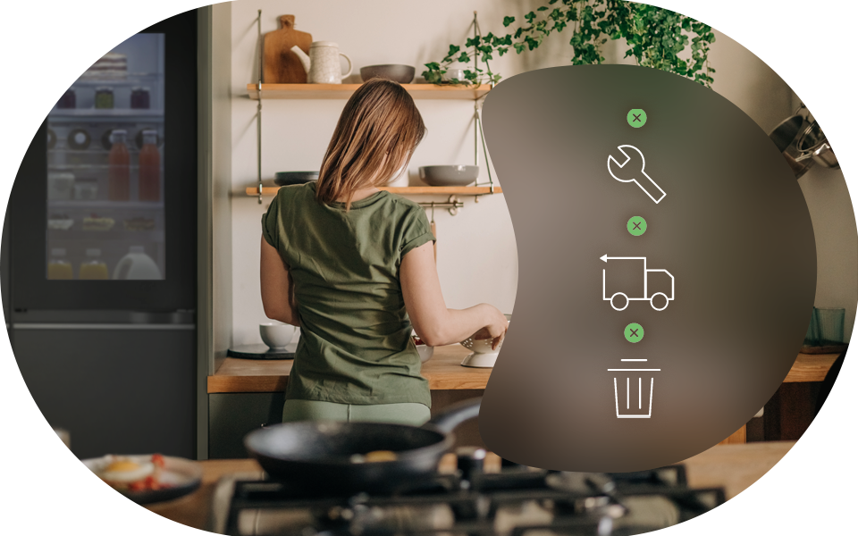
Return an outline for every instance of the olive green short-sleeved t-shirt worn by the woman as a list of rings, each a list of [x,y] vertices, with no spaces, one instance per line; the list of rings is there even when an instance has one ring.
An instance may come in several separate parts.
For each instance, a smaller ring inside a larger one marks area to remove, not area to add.
[[[286,398],[430,406],[400,286],[402,257],[434,239],[420,205],[382,191],[347,212],[308,182],[280,188],[262,231],[290,266],[301,320]]]

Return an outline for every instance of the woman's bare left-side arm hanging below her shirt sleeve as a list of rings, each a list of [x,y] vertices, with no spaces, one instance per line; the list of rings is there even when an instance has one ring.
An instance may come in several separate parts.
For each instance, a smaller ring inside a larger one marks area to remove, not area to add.
[[[280,252],[266,242],[265,238],[262,239],[259,278],[265,316],[293,326],[301,325],[289,266],[283,261]]]

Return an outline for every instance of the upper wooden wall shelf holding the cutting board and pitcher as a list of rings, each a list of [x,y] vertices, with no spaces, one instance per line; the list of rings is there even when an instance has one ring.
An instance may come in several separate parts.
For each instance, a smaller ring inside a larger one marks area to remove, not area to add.
[[[263,84],[262,98],[289,99],[345,99],[349,98],[360,84]],[[415,99],[423,100],[476,100],[492,88],[481,86],[436,86],[434,84],[402,84]],[[256,84],[248,84],[248,94],[259,99]]]

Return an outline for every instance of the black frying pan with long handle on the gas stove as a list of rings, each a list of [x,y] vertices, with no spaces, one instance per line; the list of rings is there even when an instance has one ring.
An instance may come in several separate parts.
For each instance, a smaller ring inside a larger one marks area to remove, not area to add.
[[[482,398],[445,409],[421,427],[390,423],[300,421],[274,424],[244,438],[250,456],[273,479],[309,492],[389,494],[438,469],[452,431],[480,413]],[[392,450],[396,459],[355,463],[352,456]]]

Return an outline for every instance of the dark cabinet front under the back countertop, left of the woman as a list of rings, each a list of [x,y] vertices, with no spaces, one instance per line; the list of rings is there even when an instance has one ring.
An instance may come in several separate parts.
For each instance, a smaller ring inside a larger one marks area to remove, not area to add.
[[[208,396],[208,457],[248,457],[244,436],[282,422],[283,393],[216,393]]]

